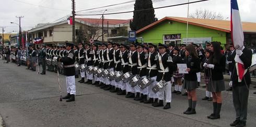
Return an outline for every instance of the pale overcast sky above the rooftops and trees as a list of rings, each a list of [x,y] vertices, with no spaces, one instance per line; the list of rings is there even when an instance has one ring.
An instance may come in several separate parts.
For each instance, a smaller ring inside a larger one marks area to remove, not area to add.
[[[102,7],[112,4],[119,4],[129,2],[131,0],[75,0],[77,14],[102,14],[121,12],[133,10],[133,4],[127,3],[118,6],[100,8],[95,10],[79,11],[90,8]],[[141,0],[143,1],[143,0]],[[190,0],[197,1],[197,0]],[[241,20],[256,22],[256,0],[237,0],[240,10]],[[18,32],[17,24],[10,24],[10,22],[19,23],[16,16],[24,16],[21,19],[22,30],[29,30],[35,27],[38,23],[47,23],[53,21],[66,20],[65,16],[71,15],[71,0],[0,0],[0,26],[5,26],[5,33]],[[153,0],[154,7],[168,6],[174,4],[186,3],[188,0]],[[155,14],[158,19],[166,16],[187,17],[188,5],[168,7],[162,9],[155,9]],[[201,3],[190,4],[190,13],[196,9],[208,9],[223,15],[224,19],[230,20],[230,0],[210,0]],[[63,18],[64,17],[64,18]],[[80,16],[81,17],[81,16]],[[100,18],[101,16],[83,16],[84,18]],[[63,19],[60,19],[63,18]],[[110,19],[131,19],[133,13],[106,15],[104,18]],[[59,19],[59,20],[57,20]],[[2,31],[1,31],[2,33]]]

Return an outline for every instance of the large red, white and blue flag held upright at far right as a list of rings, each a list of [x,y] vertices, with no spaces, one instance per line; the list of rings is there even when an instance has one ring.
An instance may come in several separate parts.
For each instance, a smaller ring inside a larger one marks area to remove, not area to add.
[[[242,30],[242,24],[241,24],[241,18],[239,14],[238,4],[237,0],[231,0],[231,40],[234,44],[234,47],[236,49],[242,49],[243,47],[243,30]],[[245,69],[245,66],[243,66],[242,60],[239,58],[238,55],[235,57],[236,61],[236,69],[237,69],[237,75],[238,75],[238,82],[242,81],[243,75],[247,72],[247,69]]]

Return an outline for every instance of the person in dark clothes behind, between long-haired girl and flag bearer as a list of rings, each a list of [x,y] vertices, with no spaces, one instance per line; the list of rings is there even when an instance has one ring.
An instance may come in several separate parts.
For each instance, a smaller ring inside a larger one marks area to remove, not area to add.
[[[235,68],[235,56],[236,56],[236,50],[234,48],[233,45],[229,46],[229,50],[230,52],[228,53],[228,71],[229,71],[229,75],[231,75],[231,73],[234,71]],[[231,82],[231,81],[230,81]],[[227,91],[232,91],[232,87],[230,86]]]

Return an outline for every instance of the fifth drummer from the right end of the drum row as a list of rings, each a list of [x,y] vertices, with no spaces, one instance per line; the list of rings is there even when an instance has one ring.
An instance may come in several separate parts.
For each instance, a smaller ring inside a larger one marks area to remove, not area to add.
[[[121,70],[123,73],[129,72],[129,56],[128,56],[128,51],[129,46],[126,46],[124,44],[121,44],[120,46],[120,59],[121,59]],[[117,95],[126,95],[126,84],[120,81],[119,83],[119,88],[121,88],[121,91],[117,93]]]

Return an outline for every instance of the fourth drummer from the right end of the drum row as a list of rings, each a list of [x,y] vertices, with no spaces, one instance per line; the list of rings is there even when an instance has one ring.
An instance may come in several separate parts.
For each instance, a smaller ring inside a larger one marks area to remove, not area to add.
[[[129,70],[131,70],[133,75],[137,74],[137,57],[138,53],[136,51],[137,45],[132,43],[130,45],[130,53],[129,53]],[[135,97],[135,90],[134,88],[127,82],[126,83],[126,98],[134,98]]]

